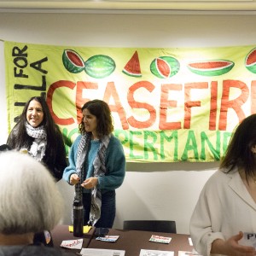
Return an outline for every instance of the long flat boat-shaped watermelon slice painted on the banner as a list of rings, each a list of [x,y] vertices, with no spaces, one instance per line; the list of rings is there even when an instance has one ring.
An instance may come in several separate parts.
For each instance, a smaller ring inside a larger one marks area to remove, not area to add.
[[[235,63],[225,60],[196,61],[188,64],[189,70],[201,76],[219,76],[228,73]]]

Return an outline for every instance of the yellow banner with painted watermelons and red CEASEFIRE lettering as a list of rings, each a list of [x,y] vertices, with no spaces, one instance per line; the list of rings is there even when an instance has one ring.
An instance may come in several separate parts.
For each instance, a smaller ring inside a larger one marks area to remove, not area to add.
[[[109,104],[131,162],[220,160],[236,125],[256,113],[256,45],[4,50],[9,131],[31,96],[45,96],[67,154],[92,99]]]

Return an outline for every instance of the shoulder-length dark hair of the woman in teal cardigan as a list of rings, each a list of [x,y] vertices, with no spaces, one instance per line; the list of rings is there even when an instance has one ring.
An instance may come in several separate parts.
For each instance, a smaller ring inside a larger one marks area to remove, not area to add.
[[[96,116],[96,119],[97,119],[96,132],[99,138],[105,135],[108,135],[113,131],[113,123],[112,123],[113,119],[111,116],[110,108],[108,107],[108,104],[106,102],[103,102],[101,100],[93,100],[90,102],[86,102],[84,104],[84,106],[82,107],[82,112],[85,108],[88,109],[91,114]],[[84,128],[83,119],[79,124],[79,132],[81,134],[84,134],[86,132]]]

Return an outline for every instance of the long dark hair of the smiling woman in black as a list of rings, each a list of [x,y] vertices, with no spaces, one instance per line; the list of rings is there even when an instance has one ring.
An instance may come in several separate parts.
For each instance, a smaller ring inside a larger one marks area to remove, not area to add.
[[[28,102],[26,102],[25,107],[23,108],[22,113],[20,114],[19,120],[15,125],[13,131],[14,135],[12,136],[11,140],[8,140],[8,144],[11,148],[15,148],[20,150],[20,148],[28,147],[31,142],[32,138],[29,137],[26,133],[26,111],[27,108],[32,101],[37,101],[41,104],[44,112],[44,119],[40,125],[44,125],[46,134],[47,134],[47,146],[46,146],[46,154],[45,160],[55,160],[56,150],[57,148],[57,140],[56,138],[60,137],[61,131],[49,113],[49,108],[47,103],[45,102],[43,97],[33,96],[30,98]]]

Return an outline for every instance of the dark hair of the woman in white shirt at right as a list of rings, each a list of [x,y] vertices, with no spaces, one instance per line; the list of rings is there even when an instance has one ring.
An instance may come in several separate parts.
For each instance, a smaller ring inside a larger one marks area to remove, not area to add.
[[[248,116],[237,126],[220,167],[230,172],[235,166],[244,170],[246,178],[256,173],[256,155],[252,147],[256,145],[256,114]]]

